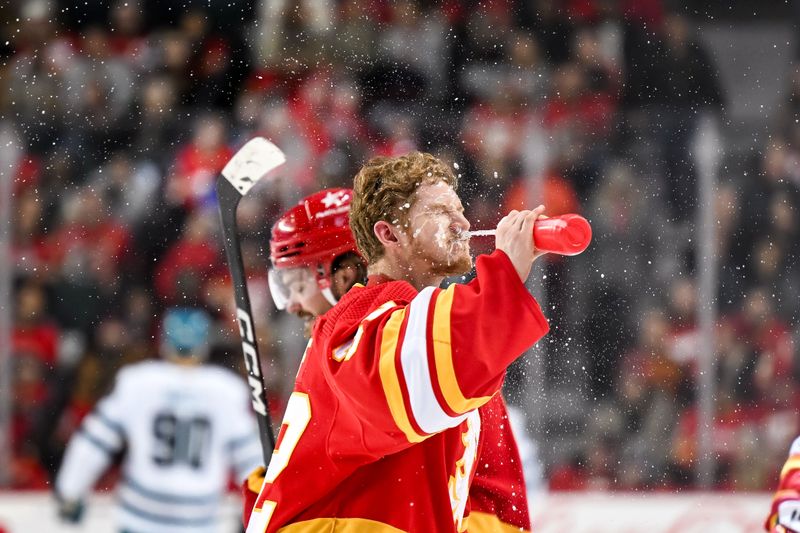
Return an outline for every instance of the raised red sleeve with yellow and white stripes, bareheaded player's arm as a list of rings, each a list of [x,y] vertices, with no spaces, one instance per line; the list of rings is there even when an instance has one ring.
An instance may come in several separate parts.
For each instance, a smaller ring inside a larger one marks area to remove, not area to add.
[[[328,379],[362,424],[406,446],[459,425],[500,389],[505,370],[548,331],[508,256],[477,261],[477,277],[428,287],[372,311],[334,348]],[[381,449],[382,452],[391,451]]]

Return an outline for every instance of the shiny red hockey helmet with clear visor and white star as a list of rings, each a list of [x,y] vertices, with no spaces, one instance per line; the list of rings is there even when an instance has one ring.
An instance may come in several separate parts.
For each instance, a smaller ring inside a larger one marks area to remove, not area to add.
[[[275,270],[309,268],[325,298],[336,303],[331,286],[331,265],[347,252],[358,253],[350,231],[350,189],[325,189],[303,198],[272,226],[270,261]],[[285,290],[270,271],[270,288],[279,309]]]

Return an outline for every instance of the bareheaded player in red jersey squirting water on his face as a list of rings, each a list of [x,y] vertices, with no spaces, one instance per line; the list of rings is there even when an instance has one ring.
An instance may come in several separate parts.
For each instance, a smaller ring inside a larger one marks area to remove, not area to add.
[[[474,281],[439,290],[472,266],[450,168],[376,158],[355,184],[370,278],[314,326],[248,533],[466,531],[478,409],[548,328],[523,284],[541,206],[500,222]]]

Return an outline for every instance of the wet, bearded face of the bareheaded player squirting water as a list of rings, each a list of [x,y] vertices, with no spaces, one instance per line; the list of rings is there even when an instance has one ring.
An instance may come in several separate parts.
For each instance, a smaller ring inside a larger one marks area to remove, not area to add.
[[[437,276],[469,272],[469,221],[464,218],[461,199],[444,182],[417,188],[408,212],[409,267]]]

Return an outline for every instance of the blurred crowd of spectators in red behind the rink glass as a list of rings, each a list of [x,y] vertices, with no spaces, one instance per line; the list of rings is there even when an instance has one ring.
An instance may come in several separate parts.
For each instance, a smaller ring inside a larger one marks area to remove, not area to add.
[[[550,487],[696,485],[692,143],[709,117],[724,138],[736,89],[698,20],[661,0],[70,4],[2,14],[13,487],[47,486],[116,370],[157,353],[165,307],[205,307],[213,360],[241,364],[213,185],[254,135],[288,159],[239,213],[275,418],[304,343],[269,298],[271,222],[349,186],[371,156],[421,149],[454,162],[475,228],[538,203],[592,223],[590,249],[541,275],[554,327],[540,393],[572,391],[531,424]],[[767,140],[717,176],[720,489],[772,488],[800,433],[793,64]],[[510,374],[512,403],[525,405],[529,374]]]

